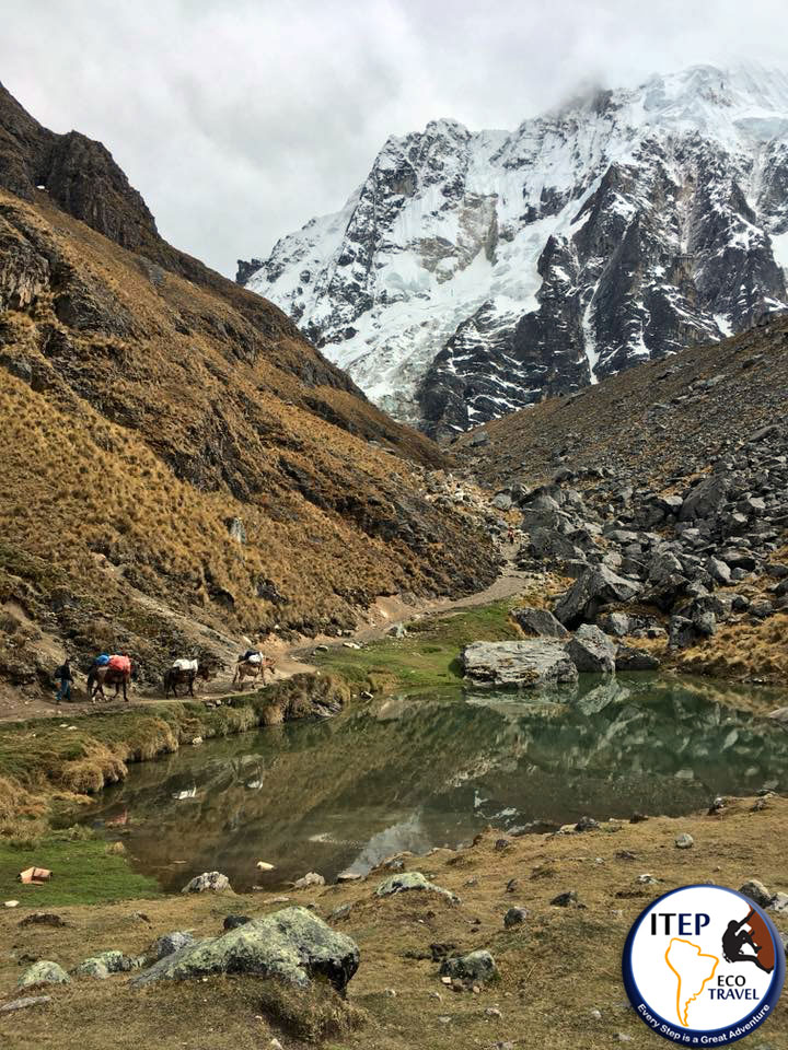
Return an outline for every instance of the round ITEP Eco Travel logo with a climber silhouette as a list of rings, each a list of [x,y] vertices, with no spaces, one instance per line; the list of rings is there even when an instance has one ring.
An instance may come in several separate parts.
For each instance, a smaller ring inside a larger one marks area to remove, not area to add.
[[[772,920],[723,886],[683,886],[654,900],[624,946],[624,984],[638,1016],[684,1046],[751,1035],[772,1016],[785,969]]]

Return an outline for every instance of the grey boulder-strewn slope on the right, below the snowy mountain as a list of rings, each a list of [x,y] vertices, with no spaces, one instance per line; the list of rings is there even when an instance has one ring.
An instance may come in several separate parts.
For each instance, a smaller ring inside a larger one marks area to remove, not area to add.
[[[781,682],[787,409],[788,323],[773,319],[459,444],[467,470],[498,487],[494,504],[519,513],[520,567],[573,579],[553,608],[559,623],[599,629],[591,641],[613,645],[618,669],[656,667],[659,652],[684,669]],[[521,626],[560,637],[545,615]]]

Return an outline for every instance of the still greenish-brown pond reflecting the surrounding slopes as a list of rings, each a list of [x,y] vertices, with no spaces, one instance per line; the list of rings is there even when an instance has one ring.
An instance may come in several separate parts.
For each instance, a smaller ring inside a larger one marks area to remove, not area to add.
[[[490,821],[680,814],[786,777],[788,733],[735,692],[722,700],[650,677],[525,700],[389,698],[140,766],[91,818],[127,810],[129,852],[169,888],[215,867],[243,888],[257,860],[276,884],[456,844]]]

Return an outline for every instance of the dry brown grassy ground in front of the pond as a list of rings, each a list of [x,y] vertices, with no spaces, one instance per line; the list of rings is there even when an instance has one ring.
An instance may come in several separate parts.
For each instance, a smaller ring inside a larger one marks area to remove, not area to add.
[[[274,1037],[286,1050],[308,1041],[333,1050],[472,1050],[501,1043],[518,1050],[606,1050],[619,1042],[657,1050],[664,1043],[626,1003],[621,979],[626,933],[650,900],[680,885],[708,880],[738,888],[757,877],[773,892],[788,890],[788,800],[772,796],[758,809],[753,804],[739,800],[714,816],[652,817],[502,845],[490,830],[465,850],[405,856],[408,870],[456,892],[456,906],[419,892],[378,899],[374,889],[389,874],[383,870],[362,883],[290,891],[293,903],[313,905],[359,945],[361,966],[347,1005],[322,990],[299,998],[257,979],[222,977],[135,991],[120,975],[46,989],[51,1003],[0,1014],[0,1040],[9,1050],[77,1045],[259,1050]],[[694,837],[692,849],[675,848],[681,831]],[[647,872],[659,882],[641,884],[638,876]],[[551,905],[570,889],[583,908]],[[529,914],[523,925],[506,930],[503,915],[512,906]],[[22,909],[0,910],[0,1000],[15,996],[25,956],[72,968],[100,949],[137,954],[174,929],[216,935],[229,913],[254,917],[280,907],[271,894],[177,896],[61,908],[68,925],[60,929],[20,929]],[[775,914],[775,921],[788,931],[787,915]],[[499,979],[478,994],[454,992],[440,981],[431,945],[487,948]],[[788,1001],[746,1045],[788,1047]]]

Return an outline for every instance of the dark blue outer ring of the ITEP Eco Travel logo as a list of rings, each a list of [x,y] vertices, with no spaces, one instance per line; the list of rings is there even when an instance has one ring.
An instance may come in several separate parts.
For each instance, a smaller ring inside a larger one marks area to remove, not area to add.
[[[635,942],[635,936],[638,930],[640,929],[640,923],[644,921],[644,919],[647,915],[649,915],[653,911],[657,905],[659,905],[663,900],[667,900],[669,897],[673,897],[675,894],[684,889],[720,890],[726,894],[731,894],[733,897],[738,897],[740,900],[744,901],[750,908],[754,909],[757,912],[757,914],[764,920],[764,923],[766,924],[766,929],[768,930],[769,935],[772,937],[772,943],[774,946],[774,954],[775,954],[775,967],[774,967],[774,972],[772,975],[772,982],[769,983],[768,991],[763,996],[763,999],[757,1003],[757,1005],[752,1011],[750,1011],[750,1013],[745,1014],[739,1020],[735,1020],[730,1025],[725,1025],[725,1027],[722,1028],[707,1029],[707,1028],[677,1027],[673,1022],[668,1020],[665,1017],[659,1014],[656,1010],[649,1006],[648,1000],[646,999],[645,995],[641,994],[640,989],[638,988],[637,981],[635,980],[635,973],[633,971],[633,966],[631,966],[631,953],[633,953],[633,944]],[[785,981],[786,949],[783,945],[783,940],[779,933],[777,932],[777,929],[775,928],[775,924],[772,922],[769,917],[764,912],[763,908],[756,905],[755,901],[751,900],[749,897],[745,897],[744,894],[740,894],[735,889],[730,889],[728,886],[715,886],[708,883],[706,884],[693,883],[690,886],[677,886],[675,889],[671,889],[667,894],[662,894],[661,897],[658,897],[656,900],[652,900],[647,908],[644,908],[644,910],[640,912],[638,918],[633,923],[629,930],[629,934],[624,944],[624,955],[622,958],[622,975],[624,977],[624,988],[626,989],[626,993],[629,999],[629,1002],[631,1003],[631,1006],[635,1010],[638,1017],[640,1018],[640,1020],[648,1027],[650,1031],[656,1032],[658,1036],[661,1036],[663,1039],[668,1039],[670,1042],[684,1041],[684,1040],[676,1040],[675,1035],[679,1034],[681,1036],[690,1036],[698,1040],[700,1038],[705,1038],[707,1041],[703,1043],[703,1046],[730,1046],[730,1043],[738,1042],[739,1039],[743,1039],[745,1036],[751,1036],[756,1028],[760,1028],[761,1025],[765,1020],[768,1020],[768,1018],[772,1016],[772,1013],[774,1012],[774,1008],[777,1005],[777,1000],[780,996],[780,992],[783,991],[783,982]],[[664,1025],[669,1029],[668,1032],[660,1031],[659,1028],[654,1028],[652,1025],[650,1025],[646,1020],[646,1018],[638,1011],[638,1005],[640,1003],[642,1003],[645,1006],[648,1006],[653,1017],[657,1020],[659,1020],[661,1025]],[[764,1010],[764,1007],[766,1008]],[[722,1038],[728,1035],[728,1031],[731,1028],[750,1024],[752,1018],[756,1014],[761,1013],[762,1011],[763,1011],[763,1016],[758,1020],[756,1020],[754,1024],[752,1024],[746,1031],[742,1031],[740,1035],[734,1035],[730,1038]],[[671,1035],[670,1032],[673,1032],[674,1035]],[[709,1040],[717,1040],[717,1041],[710,1042]],[[700,1043],[695,1043],[695,1046],[699,1046],[699,1045]]]

